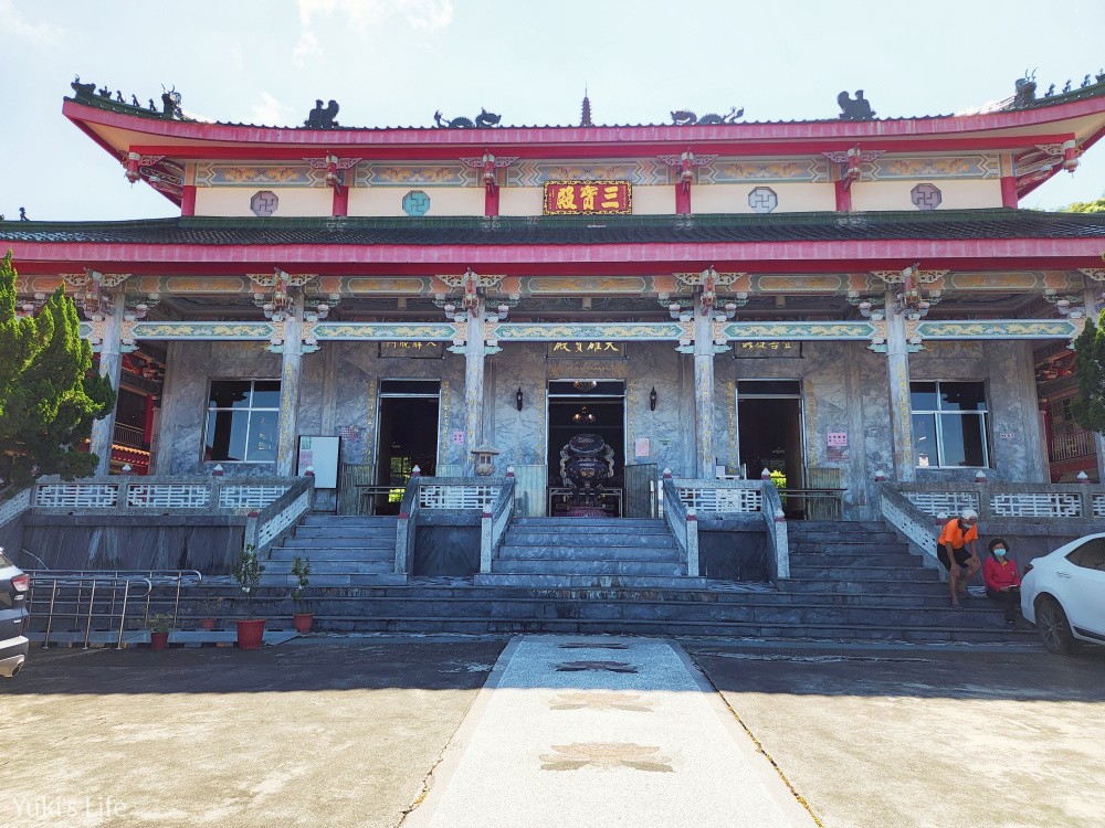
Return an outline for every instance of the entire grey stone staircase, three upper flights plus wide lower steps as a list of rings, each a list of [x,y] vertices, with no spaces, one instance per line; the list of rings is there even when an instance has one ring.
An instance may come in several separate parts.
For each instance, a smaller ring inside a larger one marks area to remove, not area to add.
[[[275,628],[287,614],[292,558],[307,553],[308,598],[326,631],[1032,640],[1027,625],[1009,630],[985,598],[950,608],[937,572],[882,523],[788,529],[792,577],[779,590],[686,577],[661,521],[601,519],[519,519],[491,573],[402,583],[390,572],[393,518],[312,517],[266,564],[269,585],[284,588],[256,599],[271,596]]]

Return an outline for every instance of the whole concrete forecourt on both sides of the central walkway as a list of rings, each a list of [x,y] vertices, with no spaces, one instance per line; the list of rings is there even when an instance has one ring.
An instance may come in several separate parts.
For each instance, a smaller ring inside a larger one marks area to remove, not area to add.
[[[505,644],[32,649],[0,826],[392,828]],[[681,644],[825,828],[1105,826],[1101,649]]]

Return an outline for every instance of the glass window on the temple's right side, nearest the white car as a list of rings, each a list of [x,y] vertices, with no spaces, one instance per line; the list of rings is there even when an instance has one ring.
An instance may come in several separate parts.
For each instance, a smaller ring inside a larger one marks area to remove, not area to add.
[[[909,399],[917,466],[989,465],[985,383],[913,382]]]

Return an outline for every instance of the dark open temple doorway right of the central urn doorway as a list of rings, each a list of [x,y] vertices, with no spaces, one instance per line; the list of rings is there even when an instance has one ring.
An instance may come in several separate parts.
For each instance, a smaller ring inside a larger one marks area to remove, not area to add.
[[[737,382],[737,422],[740,464],[749,480],[764,469],[780,489],[804,486],[802,446],[802,384],[798,380]],[[801,511],[800,499],[788,498],[788,514]]]

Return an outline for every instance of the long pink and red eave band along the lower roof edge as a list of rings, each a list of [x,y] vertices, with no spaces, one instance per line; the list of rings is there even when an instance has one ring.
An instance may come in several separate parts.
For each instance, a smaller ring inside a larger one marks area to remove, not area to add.
[[[82,266],[130,273],[241,275],[280,266],[291,273],[512,275],[656,274],[714,265],[751,273],[840,273],[922,261],[954,269],[1092,267],[1098,238],[888,240],[573,245],[169,245],[8,242],[23,275]]]

